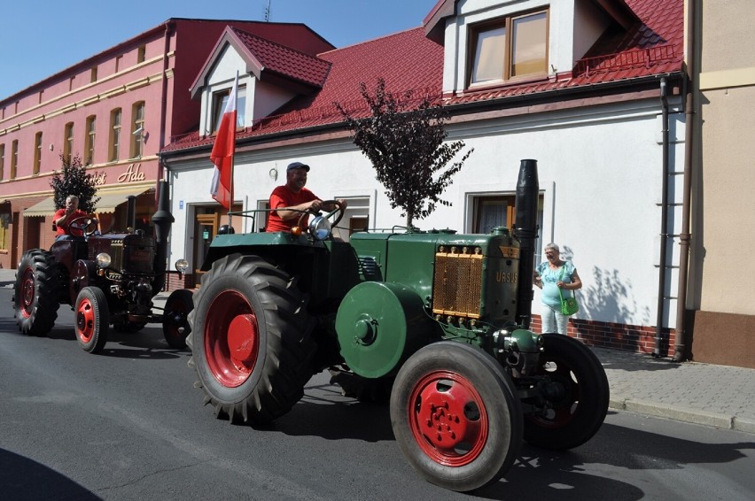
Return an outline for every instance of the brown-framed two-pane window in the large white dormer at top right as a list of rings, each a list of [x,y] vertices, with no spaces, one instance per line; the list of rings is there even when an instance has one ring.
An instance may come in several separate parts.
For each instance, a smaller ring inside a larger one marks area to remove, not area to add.
[[[486,21],[470,28],[469,86],[548,73],[548,11]]]

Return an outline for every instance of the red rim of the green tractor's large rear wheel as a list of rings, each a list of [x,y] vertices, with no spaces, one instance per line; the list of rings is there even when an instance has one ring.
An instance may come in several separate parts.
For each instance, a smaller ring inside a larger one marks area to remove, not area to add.
[[[214,298],[205,319],[205,357],[215,379],[227,388],[244,383],[260,351],[257,317],[246,298],[224,290]]]

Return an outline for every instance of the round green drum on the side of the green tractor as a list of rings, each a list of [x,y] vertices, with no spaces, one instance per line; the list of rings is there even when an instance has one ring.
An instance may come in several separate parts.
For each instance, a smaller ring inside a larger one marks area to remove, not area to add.
[[[365,281],[339,306],[340,353],[354,373],[378,378],[398,372],[429,343],[432,320],[414,289],[393,282]]]

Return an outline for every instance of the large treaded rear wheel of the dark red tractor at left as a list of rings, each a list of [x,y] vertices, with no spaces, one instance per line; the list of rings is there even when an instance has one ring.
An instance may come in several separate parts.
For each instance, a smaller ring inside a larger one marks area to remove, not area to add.
[[[19,331],[46,335],[58,319],[59,266],[51,252],[33,249],[19,261],[14,285],[13,308]]]

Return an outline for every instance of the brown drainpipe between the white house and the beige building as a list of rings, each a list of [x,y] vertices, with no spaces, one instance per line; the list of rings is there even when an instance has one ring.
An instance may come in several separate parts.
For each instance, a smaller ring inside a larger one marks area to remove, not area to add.
[[[679,234],[679,245],[681,246],[679,256],[679,292],[677,293],[676,304],[676,336],[673,343],[674,362],[683,362],[689,358],[689,349],[687,347],[686,332],[686,312],[687,312],[687,283],[689,281],[689,209],[692,192],[692,139],[693,139],[693,119],[695,113],[695,31],[697,19],[695,19],[695,4],[697,0],[687,2],[687,19],[689,27],[687,29],[687,93],[684,98],[684,184],[681,199],[681,233]]]

